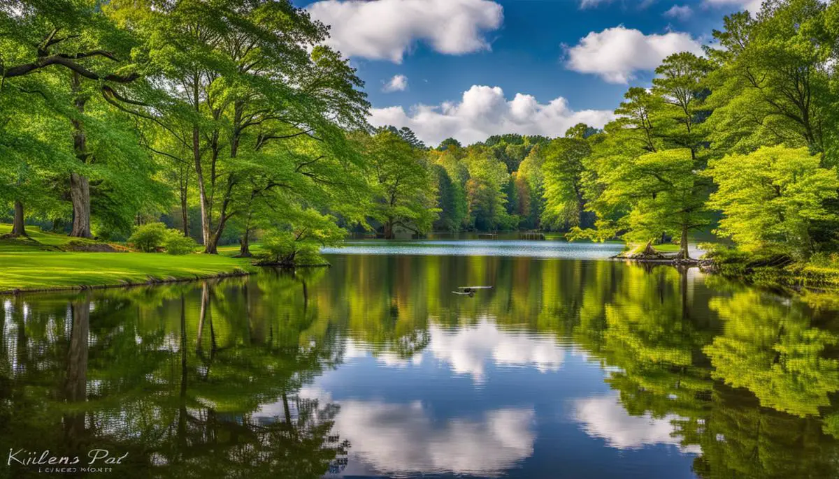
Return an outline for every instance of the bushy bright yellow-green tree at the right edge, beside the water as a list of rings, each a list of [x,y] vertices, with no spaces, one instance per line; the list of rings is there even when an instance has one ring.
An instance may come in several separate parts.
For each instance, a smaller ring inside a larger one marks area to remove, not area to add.
[[[839,188],[836,170],[819,163],[805,147],[762,147],[711,161],[707,174],[718,188],[709,205],[723,215],[718,233],[745,250],[816,252],[813,223],[836,219],[824,201],[836,198]]]

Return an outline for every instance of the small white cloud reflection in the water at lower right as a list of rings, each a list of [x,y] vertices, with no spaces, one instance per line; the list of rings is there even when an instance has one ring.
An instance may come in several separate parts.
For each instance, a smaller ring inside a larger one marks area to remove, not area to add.
[[[701,454],[699,446],[680,446],[680,440],[673,435],[670,421],[680,420],[678,415],[654,418],[652,415],[629,415],[618,401],[618,394],[595,396],[574,401],[574,420],[581,423],[582,430],[592,437],[606,440],[608,446],[616,449],[638,449],[656,444],[679,446],[680,451]]]

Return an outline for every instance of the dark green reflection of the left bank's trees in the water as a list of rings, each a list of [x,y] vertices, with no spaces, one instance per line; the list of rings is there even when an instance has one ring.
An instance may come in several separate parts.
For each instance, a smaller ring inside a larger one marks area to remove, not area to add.
[[[340,362],[334,330],[307,332],[298,302],[286,312],[294,321],[248,316],[248,296],[266,293],[246,287],[254,289],[227,281],[6,301],[3,444],[83,458],[91,448],[128,452],[118,466],[126,476],[319,477],[340,468],[349,444],[332,430],[336,404],[299,395]],[[13,474],[38,475],[27,466]]]

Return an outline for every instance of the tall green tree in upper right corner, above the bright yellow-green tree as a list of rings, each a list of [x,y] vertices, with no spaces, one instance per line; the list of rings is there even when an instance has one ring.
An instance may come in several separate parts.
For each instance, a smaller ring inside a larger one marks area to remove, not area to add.
[[[771,2],[758,15],[728,16],[725,28],[714,31],[720,48],[708,53],[720,64],[709,99],[718,106],[711,115],[716,147],[741,153],[780,143],[830,149],[835,100],[828,74],[835,44],[825,10],[817,0]]]

